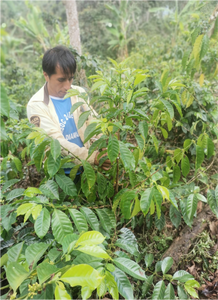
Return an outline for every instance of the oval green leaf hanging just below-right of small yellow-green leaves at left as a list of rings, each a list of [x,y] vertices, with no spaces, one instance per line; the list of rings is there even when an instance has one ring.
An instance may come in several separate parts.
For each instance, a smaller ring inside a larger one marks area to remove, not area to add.
[[[34,229],[40,239],[48,232],[50,227],[50,214],[47,208],[43,208],[39,217],[36,219]]]

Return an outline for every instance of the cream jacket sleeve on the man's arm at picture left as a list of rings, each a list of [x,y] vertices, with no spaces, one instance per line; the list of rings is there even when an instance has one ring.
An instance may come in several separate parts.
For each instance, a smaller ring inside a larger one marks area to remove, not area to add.
[[[80,159],[87,159],[88,149],[86,149],[86,147],[80,148],[78,145],[67,141],[62,135],[60,127],[55,124],[46,110],[40,107],[37,102],[29,103],[27,105],[27,116],[29,121],[35,124],[36,127],[43,128],[50,137],[57,139],[60,142],[61,146],[64,148],[63,153],[65,155],[71,154]],[[97,151],[88,158],[89,163],[94,164],[96,153]],[[79,160],[76,159],[76,163],[79,163]]]

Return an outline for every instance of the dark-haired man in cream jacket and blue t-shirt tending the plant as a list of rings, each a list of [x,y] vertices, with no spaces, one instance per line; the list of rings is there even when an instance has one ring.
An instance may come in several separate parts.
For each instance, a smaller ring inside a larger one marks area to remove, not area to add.
[[[41,127],[54,139],[57,139],[63,148],[80,159],[87,159],[89,142],[83,143],[84,132],[90,116],[85,124],[77,129],[79,116],[89,110],[88,105],[78,96],[64,99],[70,88],[85,92],[78,86],[73,86],[73,76],[76,72],[76,61],[69,49],[56,46],[47,50],[42,59],[42,69],[46,80],[45,85],[30,99],[27,104],[27,116],[31,123]],[[84,105],[70,113],[71,107],[76,102]],[[99,152],[95,151],[88,162],[98,165]],[[110,161],[106,160],[102,168],[108,170]]]

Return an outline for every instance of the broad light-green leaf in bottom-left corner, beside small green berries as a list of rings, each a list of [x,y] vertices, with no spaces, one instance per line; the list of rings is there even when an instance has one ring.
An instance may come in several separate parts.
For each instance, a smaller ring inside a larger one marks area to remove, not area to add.
[[[29,273],[17,262],[8,264],[6,269],[7,280],[14,291],[28,277]]]

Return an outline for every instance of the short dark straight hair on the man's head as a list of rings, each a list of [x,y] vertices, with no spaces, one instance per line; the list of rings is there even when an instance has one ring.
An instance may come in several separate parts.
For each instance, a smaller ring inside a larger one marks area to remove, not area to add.
[[[49,77],[56,73],[57,65],[64,74],[75,74],[76,60],[67,47],[56,46],[45,52],[42,59],[42,69]]]

